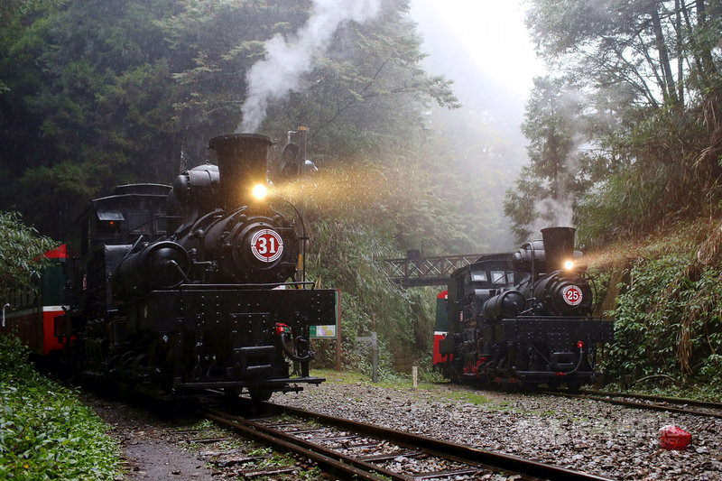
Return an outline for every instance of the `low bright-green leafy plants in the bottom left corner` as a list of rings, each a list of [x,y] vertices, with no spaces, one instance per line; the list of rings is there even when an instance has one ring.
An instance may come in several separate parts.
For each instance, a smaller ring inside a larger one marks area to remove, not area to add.
[[[0,337],[0,477],[113,479],[118,449],[105,424],[26,362],[17,338]]]

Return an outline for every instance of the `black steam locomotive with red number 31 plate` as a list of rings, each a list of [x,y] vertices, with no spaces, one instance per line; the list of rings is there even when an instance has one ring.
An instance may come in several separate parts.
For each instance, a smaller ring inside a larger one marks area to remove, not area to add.
[[[93,201],[67,242],[55,320],[75,369],[163,397],[267,400],[323,381],[309,375],[310,326],[335,323],[336,292],[293,279],[306,236],[288,202],[260,199],[271,144],[215,137],[218,165]]]

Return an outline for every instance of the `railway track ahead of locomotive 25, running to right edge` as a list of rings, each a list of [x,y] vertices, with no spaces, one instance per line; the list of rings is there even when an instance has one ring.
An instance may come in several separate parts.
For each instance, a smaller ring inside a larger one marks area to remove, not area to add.
[[[681,414],[722,418],[722,402],[705,402],[692,399],[645,394],[611,393],[606,391],[583,391],[582,393],[546,391],[545,393],[569,398],[591,399],[594,401],[608,402],[611,404],[652,411],[679,412]]]

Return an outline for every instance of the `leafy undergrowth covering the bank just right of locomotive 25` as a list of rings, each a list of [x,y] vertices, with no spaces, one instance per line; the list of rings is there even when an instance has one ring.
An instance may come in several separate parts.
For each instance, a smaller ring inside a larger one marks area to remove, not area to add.
[[[722,382],[722,230],[701,224],[680,226],[617,262],[616,270],[626,267],[607,313],[616,319],[605,356],[609,380],[699,384],[722,395],[715,388]]]

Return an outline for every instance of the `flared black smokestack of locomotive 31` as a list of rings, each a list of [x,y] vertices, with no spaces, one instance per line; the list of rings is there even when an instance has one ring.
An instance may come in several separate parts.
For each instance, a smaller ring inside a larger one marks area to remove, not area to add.
[[[208,149],[218,154],[220,193],[226,210],[247,205],[253,187],[268,184],[268,147],[272,143],[261,134],[228,134],[210,139]]]

